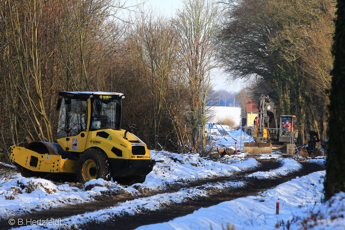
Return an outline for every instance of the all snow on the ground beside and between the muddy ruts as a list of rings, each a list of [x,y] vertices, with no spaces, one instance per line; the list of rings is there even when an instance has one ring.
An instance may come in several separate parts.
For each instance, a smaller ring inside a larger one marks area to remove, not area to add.
[[[221,136],[214,130],[211,135],[215,146],[233,148],[239,139],[250,137],[238,130],[223,128],[229,135]],[[223,190],[246,185],[245,181],[227,183],[207,183],[202,187],[183,188],[183,183],[217,176],[231,176],[234,172],[255,168],[259,165],[248,154],[226,156],[229,162],[221,163],[203,159],[199,154],[177,154],[166,151],[151,151],[151,158],[158,161],[154,170],[142,184],[126,187],[116,182],[101,179],[91,180],[78,189],[68,184],[57,186],[49,180],[23,178],[20,175],[0,178],[0,218],[14,214],[39,211],[73,203],[93,201],[93,197],[104,191],[118,191],[132,194],[137,199],[119,203],[114,207],[72,216],[61,220],[61,225],[44,226],[44,229],[75,228],[88,222],[105,222],[124,214],[134,215],[149,210],[161,209],[172,203],[200,199],[209,196],[209,189]],[[269,156],[270,155],[270,156]],[[297,171],[301,165],[294,159],[280,158],[277,154],[262,154],[259,158],[279,160],[281,166],[268,172],[255,172],[247,177],[274,178]],[[324,164],[325,158],[308,161]],[[196,165],[196,166],[195,166]],[[141,226],[138,229],[345,229],[345,193],[339,193],[331,201],[322,203],[325,171],[311,173],[280,184],[274,189],[261,192],[258,196],[238,198],[219,203],[209,208],[201,208],[194,213],[165,223]],[[161,193],[150,197],[139,197],[142,191],[168,189],[171,184],[180,184],[181,189],[173,193]],[[279,214],[276,204],[279,202]],[[43,226],[23,226],[19,229],[43,229]],[[230,228],[231,229],[231,228]]]

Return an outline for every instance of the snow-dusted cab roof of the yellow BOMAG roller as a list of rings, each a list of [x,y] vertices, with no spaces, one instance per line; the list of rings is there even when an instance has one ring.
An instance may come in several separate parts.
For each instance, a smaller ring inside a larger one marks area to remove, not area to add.
[[[96,98],[102,99],[103,96],[106,96],[108,99],[114,99],[114,100],[121,100],[121,97],[124,96],[123,93],[116,93],[116,92],[59,92],[59,96],[64,98],[75,98],[80,100],[87,100],[88,98],[92,98],[93,96],[97,96]]]

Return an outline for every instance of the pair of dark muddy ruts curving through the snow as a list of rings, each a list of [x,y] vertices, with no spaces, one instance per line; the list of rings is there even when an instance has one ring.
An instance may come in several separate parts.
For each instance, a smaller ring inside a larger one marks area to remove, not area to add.
[[[141,197],[148,197],[148,196],[152,196],[159,193],[165,193],[165,192],[176,192],[181,188],[196,187],[196,186],[203,185],[205,183],[215,183],[215,182],[221,182],[221,181],[241,181],[241,180],[248,181],[248,178],[245,178],[245,175],[247,174],[257,172],[257,171],[269,171],[272,169],[279,168],[280,166],[279,162],[273,161],[273,160],[258,160],[258,161],[261,163],[259,167],[248,170],[248,171],[237,172],[234,176],[231,176],[231,177],[217,177],[217,178],[198,180],[198,181],[194,181],[194,182],[183,184],[183,185],[172,185],[171,188],[168,190],[147,192],[147,193],[142,194]],[[165,210],[153,211],[147,214],[139,214],[139,215],[136,215],[135,217],[125,216],[120,219],[119,218],[114,219],[113,221],[111,221],[111,223],[102,223],[102,224],[97,224],[96,226],[98,227],[101,225],[105,229],[114,229],[114,226],[121,226],[121,228],[119,229],[134,229],[144,224],[168,221],[168,220],[174,219],[175,217],[189,214],[193,212],[194,210],[197,210],[201,207],[209,207],[211,205],[223,202],[225,200],[231,200],[231,199],[236,199],[238,197],[248,196],[250,194],[254,194],[259,191],[263,191],[265,189],[274,187],[277,184],[283,183],[287,180],[295,178],[296,176],[304,176],[314,171],[324,170],[321,166],[318,166],[317,164],[303,163],[303,162],[301,163],[303,164],[303,169],[299,172],[293,173],[289,177],[284,177],[284,178],[279,178],[279,179],[270,179],[270,180],[258,180],[254,178],[248,181],[247,187],[231,190],[231,196],[227,196],[230,194],[227,192],[224,192],[224,193],[212,195],[209,198],[206,198],[203,200],[191,201],[185,204],[174,204],[173,207],[166,207]],[[262,186],[258,186],[258,184],[261,184]],[[92,212],[92,211],[96,211],[100,209],[105,209],[105,208],[114,206],[114,204],[118,202],[125,202],[127,200],[134,200],[138,198],[138,197],[134,197],[130,195],[114,194],[111,192],[109,192],[107,195],[96,198],[97,199],[96,202],[81,203],[81,204],[69,205],[65,207],[52,208],[52,209],[43,210],[39,212],[32,212],[32,213],[21,215],[19,218],[32,219],[32,220],[47,219],[47,218],[48,219],[66,218],[69,216],[82,214],[85,212]],[[176,209],[174,210],[174,208]],[[18,218],[18,217],[13,217],[13,218]],[[6,220],[1,220],[0,226],[3,229],[16,227],[16,226],[10,226],[7,222],[8,219],[9,218],[7,218]],[[118,224],[114,225],[115,222]],[[91,225],[89,224],[88,226],[85,226],[84,228],[94,229],[95,226],[92,226],[92,224]]]

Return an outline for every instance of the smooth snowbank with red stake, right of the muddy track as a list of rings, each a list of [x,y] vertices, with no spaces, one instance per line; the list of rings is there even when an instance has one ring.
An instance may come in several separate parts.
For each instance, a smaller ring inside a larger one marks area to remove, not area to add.
[[[238,198],[144,229],[344,229],[345,193],[322,203],[325,172],[280,184],[258,196]],[[276,206],[279,202],[279,214]],[[231,229],[231,228],[230,228]]]

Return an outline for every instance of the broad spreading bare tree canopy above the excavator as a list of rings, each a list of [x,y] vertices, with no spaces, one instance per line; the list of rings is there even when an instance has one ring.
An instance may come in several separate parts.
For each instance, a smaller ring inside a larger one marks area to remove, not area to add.
[[[227,1],[223,60],[230,79],[257,76],[271,88],[279,114],[299,119],[300,141],[309,129],[324,137],[334,2]]]

